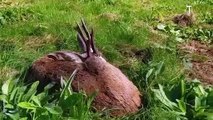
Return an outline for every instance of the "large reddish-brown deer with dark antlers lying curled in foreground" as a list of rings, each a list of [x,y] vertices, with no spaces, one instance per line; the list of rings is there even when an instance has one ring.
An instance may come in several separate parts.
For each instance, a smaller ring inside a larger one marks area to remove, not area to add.
[[[48,54],[32,64],[27,75],[29,80],[39,80],[40,87],[50,82],[60,86],[61,76],[68,77],[77,69],[72,89],[83,90],[87,95],[98,91],[93,101],[98,111],[110,109],[112,116],[137,112],[141,106],[137,87],[100,55],[94,45],[93,30],[89,33],[84,21],[77,26],[77,31],[83,53],[58,51]]]

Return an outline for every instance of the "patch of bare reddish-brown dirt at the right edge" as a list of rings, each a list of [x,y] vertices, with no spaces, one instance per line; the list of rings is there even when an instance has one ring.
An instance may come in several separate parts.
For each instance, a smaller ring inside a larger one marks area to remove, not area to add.
[[[213,46],[193,40],[181,45],[180,49],[191,58],[189,77],[213,85]]]

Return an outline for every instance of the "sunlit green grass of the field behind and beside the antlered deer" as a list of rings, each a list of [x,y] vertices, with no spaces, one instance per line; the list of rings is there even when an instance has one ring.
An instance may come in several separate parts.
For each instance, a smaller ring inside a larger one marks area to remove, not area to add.
[[[152,88],[158,84],[169,88],[184,79],[184,59],[178,52],[177,36],[155,28],[159,23],[176,28],[171,19],[184,13],[186,5],[192,6],[196,16],[190,29],[212,32],[211,0],[1,0],[1,83],[49,52],[78,51],[74,27],[83,18],[94,28],[97,47],[105,58],[121,68],[144,96],[139,113],[115,119],[176,119],[174,112],[162,110],[164,105]],[[189,28],[181,28],[185,29]],[[212,42],[212,36],[200,36],[200,41]],[[190,39],[187,36],[184,41]],[[135,56],[134,51],[139,50],[150,51],[149,57]],[[93,117],[90,119],[109,119]]]

